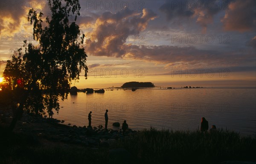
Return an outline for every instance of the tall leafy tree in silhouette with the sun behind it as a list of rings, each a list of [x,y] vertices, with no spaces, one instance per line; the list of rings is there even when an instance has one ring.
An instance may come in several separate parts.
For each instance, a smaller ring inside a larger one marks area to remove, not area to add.
[[[86,53],[76,24],[80,15],[79,0],[48,0],[52,14],[42,20],[43,13],[29,10],[28,21],[33,25],[34,40],[24,41],[23,48],[7,61],[3,77],[5,90],[12,93],[14,116],[9,130],[13,130],[23,110],[42,115],[47,110],[58,113],[58,98],[67,99],[72,80],[78,80],[81,70],[87,78]],[[72,20],[74,18],[74,20]]]

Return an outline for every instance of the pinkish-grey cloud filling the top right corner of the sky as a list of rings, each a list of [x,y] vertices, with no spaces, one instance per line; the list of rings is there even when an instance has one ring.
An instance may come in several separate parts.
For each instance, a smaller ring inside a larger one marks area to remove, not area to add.
[[[256,25],[256,1],[237,0],[230,3],[221,20],[226,31],[253,31]]]

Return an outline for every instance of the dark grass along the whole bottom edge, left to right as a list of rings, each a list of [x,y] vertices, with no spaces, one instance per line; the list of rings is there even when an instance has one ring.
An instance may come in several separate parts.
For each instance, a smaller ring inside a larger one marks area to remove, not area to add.
[[[37,137],[12,134],[0,136],[0,164],[108,164],[107,148],[92,150],[73,144],[42,143]],[[219,130],[143,130],[116,142],[125,148],[133,164],[216,164],[221,161],[256,161],[256,139]],[[119,163],[122,161],[118,161]],[[117,163],[118,163],[117,162]],[[111,163],[112,164],[112,163]]]

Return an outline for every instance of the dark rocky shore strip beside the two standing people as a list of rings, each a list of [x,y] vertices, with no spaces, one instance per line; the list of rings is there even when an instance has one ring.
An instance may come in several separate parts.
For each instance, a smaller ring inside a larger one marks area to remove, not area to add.
[[[10,121],[10,117],[5,120],[6,123]],[[137,133],[137,131],[131,129],[128,129],[123,134],[120,129],[105,129],[102,126],[68,126],[60,124],[60,122],[64,122],[64,120],[61,121],[58,119],[23,114],[22,119],[17,122],[14,132],[29,134],[34,136],[33,139],[35,140],[47,140],[47,142],[53,142],[54,144],[79,144],[93,148],[110,147],[111,144],[114,144],[118,139],[125,139],[133,133]]]

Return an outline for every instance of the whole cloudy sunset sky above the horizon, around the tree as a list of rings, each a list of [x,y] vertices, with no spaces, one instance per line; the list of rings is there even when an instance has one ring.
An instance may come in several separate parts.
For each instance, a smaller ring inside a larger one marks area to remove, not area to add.
[[[80,0],[88,79],[78,88],[156,86],[255,87],[255,0]],[[32,39],[33,7],[46,0],[0,0],[0,77],[6,60]],[[70,17],[73,20],[73,17]],[[0,79],[2,81],[2,78]]]

